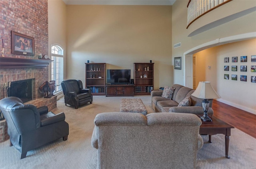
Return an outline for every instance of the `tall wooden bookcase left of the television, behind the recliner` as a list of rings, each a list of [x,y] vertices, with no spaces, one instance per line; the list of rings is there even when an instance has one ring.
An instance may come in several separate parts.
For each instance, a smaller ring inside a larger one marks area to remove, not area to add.
[[[105,95],[106,63],[85,63],[85,87],[92,95]]]

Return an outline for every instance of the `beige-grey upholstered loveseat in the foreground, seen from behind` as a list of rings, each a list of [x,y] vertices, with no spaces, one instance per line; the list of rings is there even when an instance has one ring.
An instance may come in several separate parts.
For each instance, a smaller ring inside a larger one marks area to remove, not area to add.
[[[203,140],[194,114],[99,113],[94,123],[98,169],[196,168]]]

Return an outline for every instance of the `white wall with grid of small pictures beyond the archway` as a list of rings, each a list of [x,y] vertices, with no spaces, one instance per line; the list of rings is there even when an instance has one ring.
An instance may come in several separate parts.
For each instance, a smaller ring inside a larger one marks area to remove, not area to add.
[[[256,55],[255,47],[256,39],[251,39],[216,46],[194,54],[196,84],[209,81],[221,96],[218,101],[256,114],[256,83],[251,82],[251,76],[256,76],[256,72],[251,72],[251,66],[256,66],[256,62],[251,62],[251,56]],[[232,63],[234,56],[238,57],[236,63]],[[247,62],[240,62],[240,56],[247,56]],[[229,58],[229,63],[224,63],[225,57]],[[224,66],[229,66],[229,71],[224,71]],[[237,66],[237,72],[232,71],[231,66]],[[247,72],[241,72],[240,66],[247,66]],[[224,79],[224,74],[229,75],[229,80]],[[232,74],[237,75],[237,80],[231,80]],[[240,81],[240,75],[246,75],[247,82]]]

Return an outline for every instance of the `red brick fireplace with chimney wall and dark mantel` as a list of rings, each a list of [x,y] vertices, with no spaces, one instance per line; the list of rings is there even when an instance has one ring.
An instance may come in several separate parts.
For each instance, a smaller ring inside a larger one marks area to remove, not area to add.
[[[48,105],[49,109],[53,109],[56,97],[44,99],[44,94],[38,90],[48,80],[49,73],[50,61],[38,59],[39,54],[49,54],[48,0],[0,0],[0,6],[0,40],[4,42],[0,43],[0,50],[4,48],[5,56],[0,57],[0,99],[4,97],[3,83],[33,79],[32,100],[26,103],[37,107]],[[12,31],[34,38],[34,56],[12,53]],[[4,133],[7,133],[1,132],[5,128],[3,126],[6,125],[0,121],[0,142]]]

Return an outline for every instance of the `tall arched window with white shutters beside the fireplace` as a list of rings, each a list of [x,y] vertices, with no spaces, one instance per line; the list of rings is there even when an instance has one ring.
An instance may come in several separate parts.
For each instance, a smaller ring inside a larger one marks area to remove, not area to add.
[[[58,46],[52,46],[52,66],[51,66],[51,80],[55,80],[55,91],[58,93],[62,91],[61,82],[64,80],[64,62],[63,62],[63,49]]]

